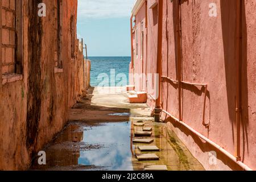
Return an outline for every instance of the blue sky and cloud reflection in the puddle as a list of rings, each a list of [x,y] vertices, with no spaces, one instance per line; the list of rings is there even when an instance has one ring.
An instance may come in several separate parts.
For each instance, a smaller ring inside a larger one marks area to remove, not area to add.
[[[86,129],[87,127],[85,127]],[[131,169],[130,123],[106,123],[84,133],[90,144],[102,144],[98,150],[81,151],[79,164],[95,165],[108,170]]]

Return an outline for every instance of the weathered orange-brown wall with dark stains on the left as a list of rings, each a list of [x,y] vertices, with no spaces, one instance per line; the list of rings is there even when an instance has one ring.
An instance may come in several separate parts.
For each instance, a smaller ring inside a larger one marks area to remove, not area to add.
[[[63,1],[60,72],[55,72],[54,61],[54,1],[43,1],[47,16],[42,18],[39,1],[23,2],[23,79],[2,85],[0,77],[0,170],[27,169],[32,156],[63,129],[69,108],[86,90],[76,37],[76,56],[71,58],[70,19],[76,19],[77,1]]]

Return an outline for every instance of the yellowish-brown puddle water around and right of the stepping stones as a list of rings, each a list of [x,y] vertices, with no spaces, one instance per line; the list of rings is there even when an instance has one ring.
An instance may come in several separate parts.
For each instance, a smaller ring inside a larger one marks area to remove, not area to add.
[[[134,170],[143,170],[143,166],[146,165],[166,165],[169,171],[204,170],[203,166],[192,156],[175,133],[167,129],[165,123],[146,121],[145,127],[152,127],[151,138],[154,138],[154,142],[149,145],[157,146],[160,148],[160,151],[141,152],[138,150],[138,146],[141,144],[136,144],[134,146],[134,153],[154,153],[159,156],[159,160],[148,162],[137,162],[137,160],[133,160]],[[142,131],[142,127],[134,127],[133,130]]]

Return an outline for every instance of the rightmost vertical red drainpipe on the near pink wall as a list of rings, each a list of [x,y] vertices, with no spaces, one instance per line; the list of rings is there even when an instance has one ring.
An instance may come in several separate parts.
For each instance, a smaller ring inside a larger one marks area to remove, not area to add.
[[[236,82],[236,125],[237,125],[237,141],[236,141],[236,157],[237,161],[241,160],[241,150],[240,150],[240,127],[241,127],[241,62],[242,62],[242,0],[237,0],[237,82]]]

